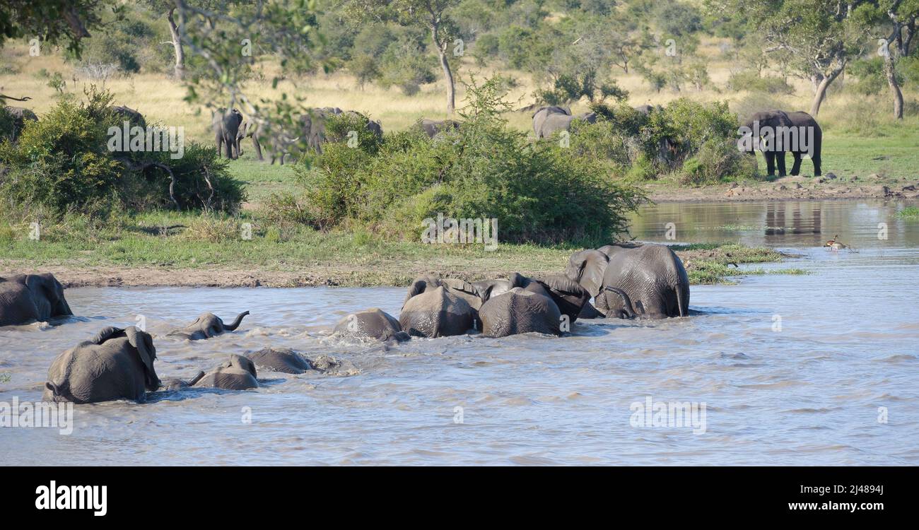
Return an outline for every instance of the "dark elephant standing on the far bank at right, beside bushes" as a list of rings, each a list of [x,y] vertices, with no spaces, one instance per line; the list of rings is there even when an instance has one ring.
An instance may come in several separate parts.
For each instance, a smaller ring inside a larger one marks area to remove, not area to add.
[[[772,145],[763,149],[763,155],[766,157],[766,172],[768,175],[775,175],[778,169],[778,176],[785,176],[785,153],[791,152],[795,162],[791,167],[791,175],[800,174],[801,156],[811,154],[811,163],[813,164],[813,175],[820,176],[821,172],[821,151],[823,149],[823,130],[810,114],[807,112],[785,112],[783,110],[768,110],[755,113],[744,126],[751,131],[771,128],[775,133]],[[746,133],[753,135],[754,132]],[[809,141],[801,141],[802,134]],[[755,140],[751,138],[751,140]],[[811,143],[812,142],[812,143]],[[749,148],[746,150],[749,154],[754,154],[754,142],[751,141]]]

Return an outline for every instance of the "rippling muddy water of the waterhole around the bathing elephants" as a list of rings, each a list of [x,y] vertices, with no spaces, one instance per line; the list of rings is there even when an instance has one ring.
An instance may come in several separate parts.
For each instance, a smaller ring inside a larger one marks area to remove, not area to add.
[[[895,218],[902,207],[647,207],[632,224],[640,240],[670,242],[674,223],[672,242],[766,244],[801,257],[754,266],[811,275],[693,287],[691,318],[578,321],[562,338],[387,347],[329,336],[349,311],[398,314],[402,288],[68,289],[77,318],[0,329],[0,402],[39,400],[55,355],[137,315],[162,334],[203,310],[252,311],[240,331],[208,341],[155,339],[161,378],[268,345],[334,355],[359,373],[262,372],[257,390],[81,405],[72,434],[2,427],[0,450],[7,464],[36,465],[915,464],[919,221]],[[834,234],[857,252],[821,248]],[[649,399],[704,405],[704,432],[676,418],[642,426],[636,404]]]

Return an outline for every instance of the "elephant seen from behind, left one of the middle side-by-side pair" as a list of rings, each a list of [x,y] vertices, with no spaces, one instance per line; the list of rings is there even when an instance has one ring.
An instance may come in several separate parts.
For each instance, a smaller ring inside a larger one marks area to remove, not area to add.
[[[461,335],[475,327],[481,305],[470,283],[425,276],[409,288],[399,323],[406,333],[415,336]]]

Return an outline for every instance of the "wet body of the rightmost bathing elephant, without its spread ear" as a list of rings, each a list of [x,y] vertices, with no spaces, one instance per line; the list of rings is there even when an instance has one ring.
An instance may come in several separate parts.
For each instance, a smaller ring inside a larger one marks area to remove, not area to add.
[[[603,289],[596,296],[597,310],[607,318],[663,319],[689,314],[689,276],[670,247],[653,243],[613,247]]]

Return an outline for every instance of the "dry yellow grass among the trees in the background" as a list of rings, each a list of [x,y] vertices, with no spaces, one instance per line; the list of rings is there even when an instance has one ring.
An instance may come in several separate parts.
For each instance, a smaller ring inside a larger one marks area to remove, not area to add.
[[[732,65],[726,60],[725,54],[721,51],[725,42],[726,40],[723,39],[703,39],[699,46],[698,55],[708,60],[709,76],[712,80],[712,86],[702,91],[686,87],[681,92],[664,89],[657,93],[650,90],[647,83],[636,73],[625,74],[616,69],[613,71],[613,76],[622,88],[629,91],[629,103],[632,106],[646,103],[666,105],[675,98],[683,96],[699,101],[727,100],[732,106],[735,106],[749,96],[749,93],[733,92],[726,88],[732,68],[736,70],[738,65]],[[6,47],[0,49],[0,60],[2,60],[0,64],[12,66],[14,71],[17,71],[17,73],[0,73],[0,93],[9,96],[31,96],[32,100],[25,105],[38,114],[48,111],[59,101],[59,96],[54,89],[47,85],[47,79],[37,75],[42,69],[49,73],[62,73],[67,82],[65,91],[76,96],[83,96],[86,85],[93,83],[102,85],[101,81],[76,76],[73,65],[63,62],[58,52],[46,52],[40,57],[30,57],[28,47],[23,43],[7,42]],[[268,63],[262,68],[265,78],[270,80],[276,66]],[[482,79],[484,76],[499,72],[510,75],[517,81],[518,86],[509,94],[509,99],[515,102],[515,107],[523,107],[532,103],[531,95],[535,85],[526,73],[480,68],[472,62],[470,57],[467,57],[459,69],[458,77],[468,78],[470,73],[476,73],[477,77]],[[794,96],[777,96],[768,99],[781,102],[783,107],[789,109],[809,109],[811,107],[809,83],[794,78],[789,79],[789,82],[796,89]],[[210,113],[203,107],[188,105],[183,100],[186,95],[185,88],[168,76],[141,73],[111,78],[104,85],[115,95],[116,104],[137,108],[151,121],[159,121],[169,126],[185,127],[189,138],[210,142]],[[462,85],[458,84],[457,88],[457,105],[462,107],[464,96]],[[286,92],[289,95],[304,97],[305,104],[310,107],[334,106],[358,110],[372,118],[380,119],[384,130],[406,129],[418,118],[447,117],[443,81],[423,86],[422,91],[415,96],[404,96],[396,88],[384,90],[372,84],[366,85],[362,90],[357,87],[354,77],[348,73],[329,75],[319,73],[301,79],[282,81],[276,89],[271,87],[269,81],[250,82],[246,86],[246,92],[249,96],[256,98],[272,98]],[[846,108],[853,104],[864,104],[863,99],[845,94],[834,95],[831,90],[831,96],[823,106],[822,121],[845,119]],[[878,99],[878,104],[886,105],[886,100],[881,97]],[[579,102],[573,105],[573,112],[583,112],[586,107],[585,102]],[[520,130],[530,128],[529,113],[515,112],[509,114],[507,118],[513,127]]]

